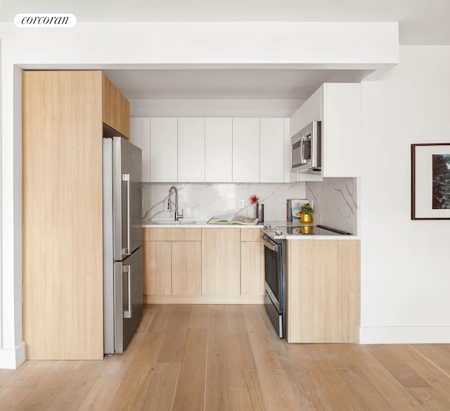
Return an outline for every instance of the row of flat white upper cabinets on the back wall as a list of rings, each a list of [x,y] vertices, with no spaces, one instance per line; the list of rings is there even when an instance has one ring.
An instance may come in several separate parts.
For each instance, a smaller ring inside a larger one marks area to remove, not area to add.
[[[144,182],[285,182],[285,118],[131,118]]]

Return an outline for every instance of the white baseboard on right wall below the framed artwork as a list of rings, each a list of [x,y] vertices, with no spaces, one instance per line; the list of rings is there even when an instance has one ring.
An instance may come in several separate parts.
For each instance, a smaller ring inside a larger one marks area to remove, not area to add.
[[[450,326],[359,327],[360,344],[448,344]]]

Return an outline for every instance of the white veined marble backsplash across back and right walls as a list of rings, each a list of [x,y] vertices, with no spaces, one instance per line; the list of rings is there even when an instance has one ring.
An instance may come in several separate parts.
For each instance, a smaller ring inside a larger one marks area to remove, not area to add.
[[[286,200],[307,198],[314,205],[314,223],[357,234],[358,179],[325,178],[321,182],[285,184],[175,183],[179,209],[186,220],[209,220],[213,215],[255,216],[250,196],[264,204],[265,221],[286,220]],[[143,183],[143,220],[173,220],[167,210],[169,183]],[[172,200],[174,197],[172,196]],[[243,201],[244,207],[239,203]]]

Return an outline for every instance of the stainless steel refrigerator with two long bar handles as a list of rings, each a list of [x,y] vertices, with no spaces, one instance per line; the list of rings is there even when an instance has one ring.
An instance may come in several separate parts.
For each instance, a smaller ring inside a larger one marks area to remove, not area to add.
[[[123,353],[142,317],[141,148],[103,139],[103,340]]]

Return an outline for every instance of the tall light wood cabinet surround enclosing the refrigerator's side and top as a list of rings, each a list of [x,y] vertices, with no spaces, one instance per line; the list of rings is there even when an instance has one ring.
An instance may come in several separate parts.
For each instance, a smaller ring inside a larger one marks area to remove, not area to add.
[[[23,72],[27,359],[103,358],[103,123],[129,103],[100,71]]]

